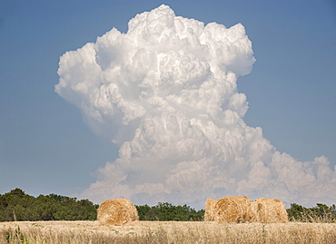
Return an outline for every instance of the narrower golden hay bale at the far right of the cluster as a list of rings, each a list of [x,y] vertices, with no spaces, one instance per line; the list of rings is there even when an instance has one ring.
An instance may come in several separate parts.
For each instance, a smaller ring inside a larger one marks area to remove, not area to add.
[[[278,199],[259,198],[254,200],[257,221],[262,223],[287,223],[288,214],[284,203]]]

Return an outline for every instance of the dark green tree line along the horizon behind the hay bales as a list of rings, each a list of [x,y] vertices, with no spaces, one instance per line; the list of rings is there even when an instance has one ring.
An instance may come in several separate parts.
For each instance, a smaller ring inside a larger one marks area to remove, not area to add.
[[[16,188],[0,194],[0,221],[36,220],[96,220],[99,205],[90,200],[77,200],[66,196],[49,194],[30,196]],[[186,204],[174,206],[159,202],[155,206],[135,205],[139,220],[147,221],[202,221],[204,210],[194,210]],[[335,222],[336,207],[317,203],[305,208],[292,203],[287,210],[289,220],[303,222]]]

